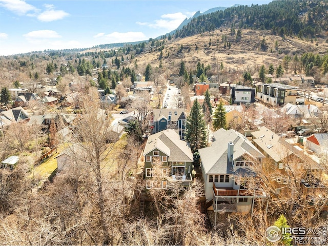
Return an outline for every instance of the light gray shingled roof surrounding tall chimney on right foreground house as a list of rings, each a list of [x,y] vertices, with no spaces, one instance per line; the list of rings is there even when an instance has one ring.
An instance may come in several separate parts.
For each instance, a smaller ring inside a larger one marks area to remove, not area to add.
[[[244,154],[255,158],[264,156],[252,145],[252,143],[235,130],[224,130],[223,128],[213,133],[215,141],[207,148],[199,149],[202,166],[206,174],[234,174],[232,163],[228,162],[228,142],[234,144],[233,159]]]

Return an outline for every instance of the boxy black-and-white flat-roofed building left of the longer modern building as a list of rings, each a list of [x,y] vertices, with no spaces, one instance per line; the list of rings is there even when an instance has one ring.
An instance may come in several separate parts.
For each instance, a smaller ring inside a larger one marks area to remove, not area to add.
[[[247,86],[232,86],[230,90],[230,104],[255,103],[255,88]]]

